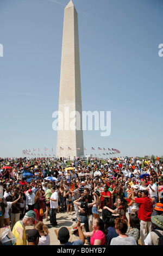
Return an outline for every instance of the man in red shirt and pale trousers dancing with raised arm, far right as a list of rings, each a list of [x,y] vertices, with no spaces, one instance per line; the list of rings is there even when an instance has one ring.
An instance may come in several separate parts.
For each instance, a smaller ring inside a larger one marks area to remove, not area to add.
[[[142,190],[140,198],[134,197],[134,190],[131,188],[132,200],[139,203],[139,211],[137,217],[140,219],[140,236],[143,245],[149,232],[152,230],[151,215],[153,212],[153,200],[148,197],[148,191]]]

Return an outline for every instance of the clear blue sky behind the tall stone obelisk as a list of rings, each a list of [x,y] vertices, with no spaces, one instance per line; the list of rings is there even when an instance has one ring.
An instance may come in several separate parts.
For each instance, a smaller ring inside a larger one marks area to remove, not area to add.
[[[62,27],[68,0],[0,0],[0,157],[56,153]],[[91,147],[163,155],[163,1],[73,0],[78,13],[83,111],[111,111],[111,134]]]

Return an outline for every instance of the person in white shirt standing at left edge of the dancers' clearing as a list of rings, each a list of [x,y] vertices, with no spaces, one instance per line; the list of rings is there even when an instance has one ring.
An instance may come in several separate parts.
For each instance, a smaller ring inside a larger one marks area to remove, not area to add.
[[[53,227],[57,225],[56,215],[58,209],[58,193],[55,191],[55,186],[51,188],[52,196],[48,197],[50,200],[51,210],[50,210],[50,223]]]

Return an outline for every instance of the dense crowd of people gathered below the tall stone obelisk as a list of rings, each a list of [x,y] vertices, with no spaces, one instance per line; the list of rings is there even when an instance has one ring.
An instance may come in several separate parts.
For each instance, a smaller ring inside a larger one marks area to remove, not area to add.
[[[159,157],[153,161],[0,159],[0,169],[0,228],[10,226],[16,245],[50,245],[45,222],[57,227],[60,212],[72,215],[79,231],[79,240],[69,242],[68,229],[60,228],[62,245],[158,245],[161,241],[163,161]],[[27,239],[25,227],[31,224],[34,230]]]

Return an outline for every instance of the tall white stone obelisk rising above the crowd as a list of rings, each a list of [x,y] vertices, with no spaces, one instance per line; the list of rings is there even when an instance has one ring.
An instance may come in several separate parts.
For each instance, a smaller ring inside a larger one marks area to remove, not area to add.
[[[58,111],[57,156],[83,156],[78,14],[72,1],[64,10]]]

